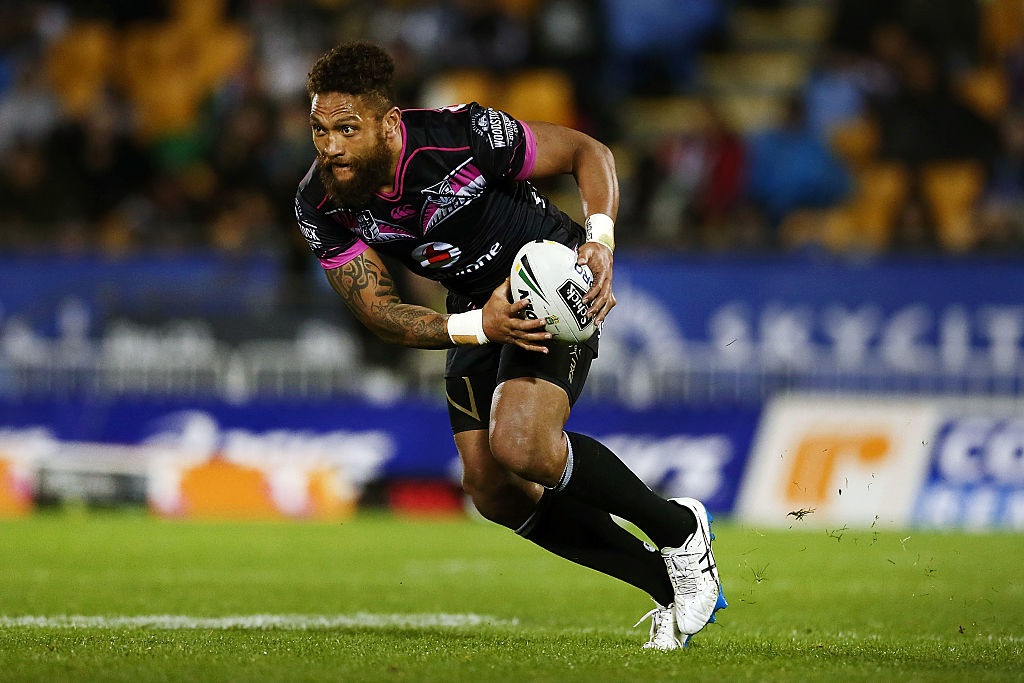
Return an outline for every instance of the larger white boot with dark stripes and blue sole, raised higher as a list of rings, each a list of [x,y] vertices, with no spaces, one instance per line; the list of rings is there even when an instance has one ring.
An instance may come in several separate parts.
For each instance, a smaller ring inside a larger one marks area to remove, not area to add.
[[[700,501],[692,498],[673,498],[672,502],[688,508],[697,518],[697,530],[679,548],[663,548],[662,558],[669,571],[675,592],[673,607],[675,624],[687,636],[714,621],[715,612],[727,607],[722,585],[711,549],[711,515]],[[689,638],[685,638],[688,641]]]

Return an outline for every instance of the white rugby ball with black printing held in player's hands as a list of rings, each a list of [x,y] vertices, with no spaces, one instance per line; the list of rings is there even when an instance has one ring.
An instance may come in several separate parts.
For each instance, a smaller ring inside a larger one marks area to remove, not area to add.
[[[513,301],[529,298],[523,317],[541,318],[556,342],[579,344],[594,334],[594,319],[584,296],[594,273],[577,263],[575,251],[550,240],[526,243],[509,274]]]

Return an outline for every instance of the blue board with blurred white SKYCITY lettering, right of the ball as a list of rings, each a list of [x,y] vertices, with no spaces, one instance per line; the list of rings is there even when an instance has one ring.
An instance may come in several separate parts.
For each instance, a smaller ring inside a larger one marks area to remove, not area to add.
[[[1024,355],[1024,263],[1012,259],[617,257],[624,308],[658,341],[723,366],[1016,377]]]

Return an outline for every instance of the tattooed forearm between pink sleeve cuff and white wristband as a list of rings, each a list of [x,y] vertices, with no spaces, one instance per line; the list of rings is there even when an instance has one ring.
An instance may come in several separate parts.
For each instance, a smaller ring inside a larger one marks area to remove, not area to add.
[[[444,316],[426,306],[403,303],[380,263],[358,256],[326,272],[352,314],[384,341],[417,348],[452,346]]]

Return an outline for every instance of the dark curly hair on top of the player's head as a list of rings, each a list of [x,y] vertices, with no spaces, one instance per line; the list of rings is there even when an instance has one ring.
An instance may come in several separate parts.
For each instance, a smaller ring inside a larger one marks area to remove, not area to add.
[[[312,97],[324,92],[360,95],[384,114],[394,101],[394,59],[373,43],[351,41],[337,45],[316,59],[306,76]]]

